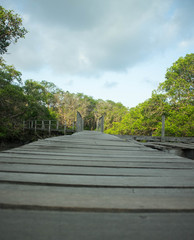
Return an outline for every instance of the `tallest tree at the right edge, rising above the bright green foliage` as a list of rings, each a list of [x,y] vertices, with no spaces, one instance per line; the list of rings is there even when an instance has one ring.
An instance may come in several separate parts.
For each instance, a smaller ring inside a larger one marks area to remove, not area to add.
[[[169,102],[166,134],[194,136],[194,53],[180,57],[165,77],[158,92],[162,91]]]

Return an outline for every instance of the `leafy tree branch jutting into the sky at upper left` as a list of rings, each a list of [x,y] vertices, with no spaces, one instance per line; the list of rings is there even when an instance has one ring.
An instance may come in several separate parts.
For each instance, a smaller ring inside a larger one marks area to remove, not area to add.
[[[22,27],[22,19],[12,10],[0,6],[0,54],[7,52],[8,46],[24,38],[27,30]]]

